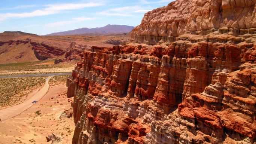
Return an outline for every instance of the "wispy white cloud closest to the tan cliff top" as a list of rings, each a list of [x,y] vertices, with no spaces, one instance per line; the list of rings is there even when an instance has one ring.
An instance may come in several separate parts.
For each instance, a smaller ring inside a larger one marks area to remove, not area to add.
[[[105,16],[134,16],[132,13],[145,13],[148,11],[141,6],[124,6],[102,11],[98,14]]]

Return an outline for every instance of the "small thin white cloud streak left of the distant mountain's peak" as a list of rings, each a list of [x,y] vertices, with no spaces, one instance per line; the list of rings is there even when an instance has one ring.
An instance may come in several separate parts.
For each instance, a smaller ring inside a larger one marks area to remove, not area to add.
[[[91,21],[97,18],[88,18],[88,17],[77,17],[77,18],[72,18],[72,20],[69,21],[58,21],[58,22],[51,22],[49,24],[46,24],[46,27],[58,27],[61,25],[67,25],[75,22],[80,22],[80,21]]]

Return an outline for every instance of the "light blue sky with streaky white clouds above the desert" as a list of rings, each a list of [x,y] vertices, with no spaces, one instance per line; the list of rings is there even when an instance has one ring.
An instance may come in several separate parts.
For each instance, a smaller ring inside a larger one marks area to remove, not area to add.
[[[107,24],[137,26],[144,13],[173,0],[0,0],[0,33],[45,35]]]

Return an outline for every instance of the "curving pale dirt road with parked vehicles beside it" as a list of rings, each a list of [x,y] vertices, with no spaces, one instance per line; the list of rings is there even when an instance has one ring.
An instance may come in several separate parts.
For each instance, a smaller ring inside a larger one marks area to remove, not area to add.
[[[40,91],[38,91],[36,94],[34,94],[30,99],[27,101],[24,101],[22,104],[14,105],[13,107],[8,107],[3,110],[0,110],[0,119],[1,121],[10,119],[12,117],[17,116],[18,114],[21,114],[23,111],[27,110],[30,108],[32,105],[32,101],[37,100],[39,101],[45,94],[48,92],[49,89],[49,79],[52,76],[48,76],[46,78],[45,85],[43,86]]]

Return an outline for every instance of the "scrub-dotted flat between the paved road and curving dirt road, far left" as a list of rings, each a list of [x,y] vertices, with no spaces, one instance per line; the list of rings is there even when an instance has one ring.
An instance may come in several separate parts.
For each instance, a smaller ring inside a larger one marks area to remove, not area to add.
[[[0,79],[0,107],[19,104],[45,84],[45,77]]]

